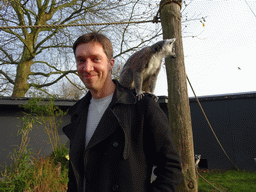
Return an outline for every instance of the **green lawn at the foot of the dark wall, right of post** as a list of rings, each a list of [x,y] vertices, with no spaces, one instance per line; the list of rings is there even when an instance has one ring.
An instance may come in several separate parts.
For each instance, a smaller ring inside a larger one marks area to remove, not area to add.
[[[199,170],[199,173],[221,191],[256,191],[256,172],[237,170]],[[207,184],[201,177],[198,179],[198,185],[199,192],[218,191]]]

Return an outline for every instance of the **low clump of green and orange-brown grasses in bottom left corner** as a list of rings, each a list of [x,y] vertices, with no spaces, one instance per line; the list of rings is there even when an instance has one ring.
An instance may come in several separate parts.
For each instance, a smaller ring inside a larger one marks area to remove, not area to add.
[[[24,154],[24,159],[1,174],[0,191],[67,191],[68,169],[55,164],[50,157],[33,157]]]

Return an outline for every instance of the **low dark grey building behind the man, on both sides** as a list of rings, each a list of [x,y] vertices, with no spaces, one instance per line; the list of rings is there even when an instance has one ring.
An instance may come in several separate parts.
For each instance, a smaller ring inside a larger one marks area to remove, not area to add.
[[[239,168],[256,171],[256,93],[231,94],[199,97],[200,103],[226,153]],[[21,142],[17,131],[22,127],[25,105],[28,98],[0,97],[0,165],[11,163],[10,153]],[[190,109],[194,137],[195,154],[201,155],[200,168],[232,169],[233,166],[225,156],[212,133],[195,98],[190,98]],[[48,102],[45,100],[44,102]],[[167,111],[167,97],[159,97],[160,107]],[[67,110],[74,100],[55,100],[55,105]],[[42,103],[44,104],[44,103]],[[69,123],[69,115],[62,119],[58,128],[62,143],[67,142],[62,127]],[[42,155],[51,153],[47,134],[42,126],[33,128],[30,133],[30,145],[34,152]],[[0,167],[0,171],[3,167]]]

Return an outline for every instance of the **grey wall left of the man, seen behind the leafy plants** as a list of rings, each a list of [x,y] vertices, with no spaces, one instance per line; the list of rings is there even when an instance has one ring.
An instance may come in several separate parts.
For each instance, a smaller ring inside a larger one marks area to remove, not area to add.
[[[0,100],[0,171],[3,171],[4,167],[12,162],[9,156],[13,150],[15,148],[17,149],[17,146],[20,145],[21,136],[18,136],[17,133],[22,127],[24,111],[19,108],[18,105],[24,103],[26,103],[26,100]],[[74,102],[68,105],[72,104],[74,104]],[[62,108],[66,110],[68,107],[65,106]],[[58,128],[61,143],[68,141],[61,129],[64,125],[69,123],[69,120],[68,115],[63,117],[63,122]],[[49,138],[43,126],[38,124],[34,126],[29,137],[29,149],[32,149],[32,152],[40,152],[41,155],[49,155],[51,153]]]

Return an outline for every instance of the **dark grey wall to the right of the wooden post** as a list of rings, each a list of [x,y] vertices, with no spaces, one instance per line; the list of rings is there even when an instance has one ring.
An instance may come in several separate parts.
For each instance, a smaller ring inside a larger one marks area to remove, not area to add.
[[[256,171],[255,94],[205,97],[200,102],[226,153],[239,168]],[[195,99],[190,99],[195,154],[209,169],[232,169]]]

